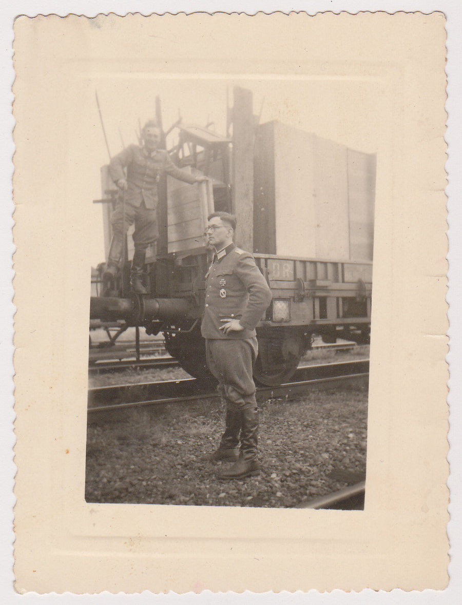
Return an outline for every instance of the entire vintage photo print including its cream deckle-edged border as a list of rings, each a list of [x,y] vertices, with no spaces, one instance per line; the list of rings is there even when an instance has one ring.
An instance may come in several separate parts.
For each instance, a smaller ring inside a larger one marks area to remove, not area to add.
[[[16,19],[18,592],[446,586],[445,24]]]

